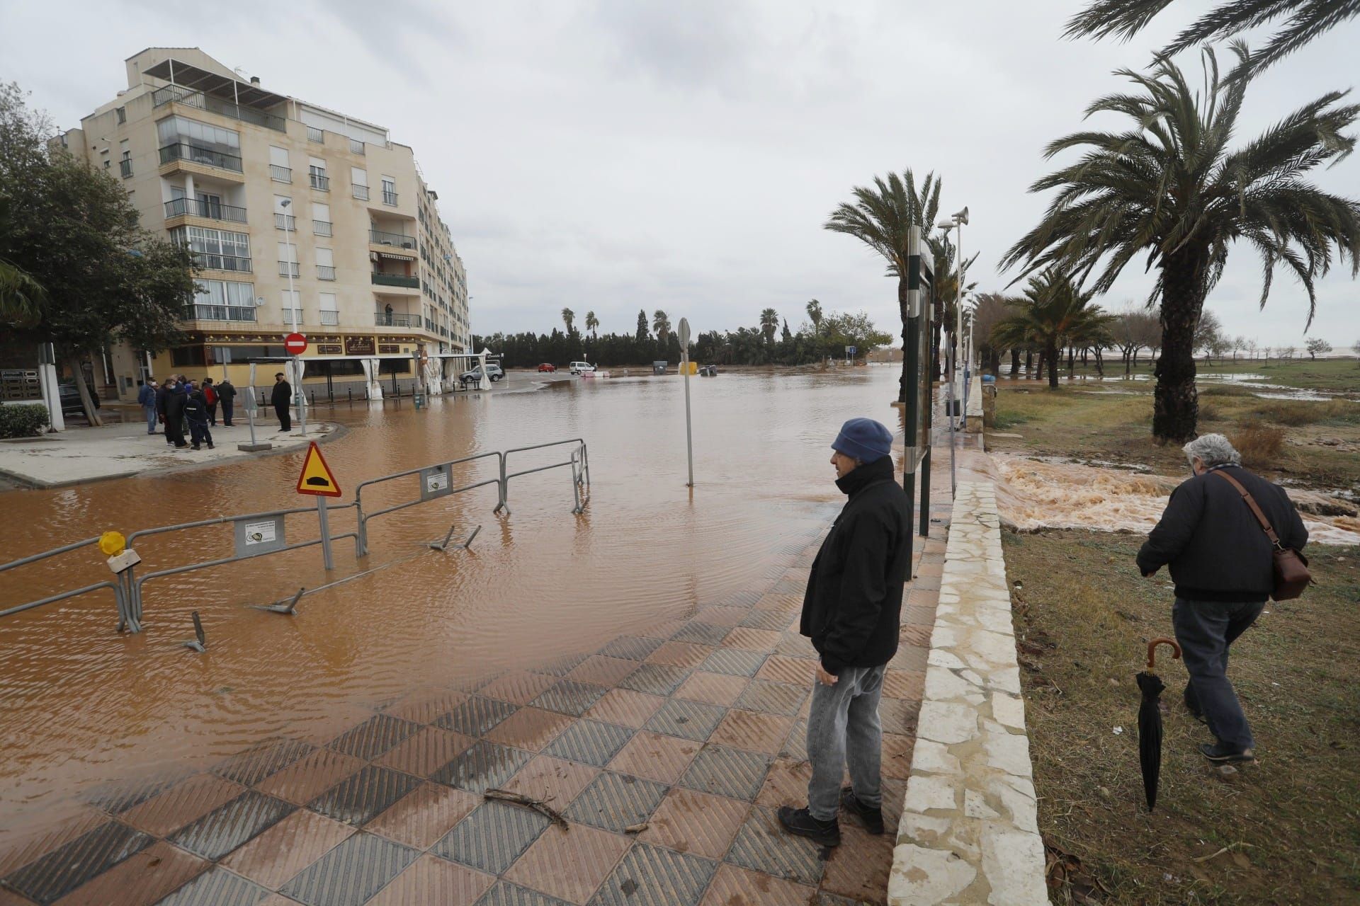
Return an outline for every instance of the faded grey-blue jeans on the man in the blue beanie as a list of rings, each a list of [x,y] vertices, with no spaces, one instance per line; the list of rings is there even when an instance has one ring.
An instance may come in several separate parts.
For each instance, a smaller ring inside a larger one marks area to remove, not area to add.
[[[869,808],[883,804],[880,763],[883,724],[879,698],[887,667],[846,667],[834,686],[813,681],[808,714],[808,811],[831,820],[840,811],[840,773],[850,769],[854,796]]]

